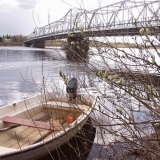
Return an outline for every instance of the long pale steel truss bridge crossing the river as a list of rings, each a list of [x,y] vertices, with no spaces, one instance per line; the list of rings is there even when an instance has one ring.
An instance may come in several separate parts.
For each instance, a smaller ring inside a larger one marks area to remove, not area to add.
[[[61,19],[35,28],[24,44],[43,48],[46,40],[67,38],[70,44],[79,35],[79,42],[84,37],[140,35],[142,28],[159,36],[159,17],[160,1],[157,0],[123,0],[94,10],[74,8]]]

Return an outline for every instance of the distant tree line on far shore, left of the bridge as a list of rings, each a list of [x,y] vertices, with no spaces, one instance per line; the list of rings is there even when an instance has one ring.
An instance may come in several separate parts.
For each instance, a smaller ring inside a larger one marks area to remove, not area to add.
[[[27,39],[26,36],[23,35],[3,35],[0,36],[0,42],[23,42]]]

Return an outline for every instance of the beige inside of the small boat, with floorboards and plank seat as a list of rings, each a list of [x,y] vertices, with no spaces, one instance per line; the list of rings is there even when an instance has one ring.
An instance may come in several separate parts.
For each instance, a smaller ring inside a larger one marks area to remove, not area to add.
[[[89,108],[90,106],[86,104],[77,105],[61,101],[48,101],[41,105],[26,106],[26,109],[21,109],[15,115],[1,119],[0,146],[20,149],[47,140],[61,130],[70,127]],[[67,122],[68,115],[73,117],[74,121],[72,123]],[[24,125],[21,125],[19,121],[17,122],[16,118],[21,122],[23,121]],[[32,125],[34,122],[34,125],[30,126],[31,122],[28,123],[27,120],[32,121]],[[37,123],[39,125],[36,125]],[[51,127],[45,129],[45,125]]]

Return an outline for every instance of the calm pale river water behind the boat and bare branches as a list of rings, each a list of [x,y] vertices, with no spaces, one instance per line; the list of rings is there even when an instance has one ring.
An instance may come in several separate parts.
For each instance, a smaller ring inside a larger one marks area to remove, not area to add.
[[[44,88],[47,91],[58,89],[65,92],[66,86],[59,75],[60,70],[68,78],[78,79],[79,92],[86,92],[86,90],[96,92],[96,84],[99,88],[105,88],[105,94],[108,97],[116,99],[117,95],[107,87],[107,84],[86,72],[89,73],[94,66],[103,68],[96,52],[93,49],[93,54],[89,55],[87,62],[75,62],[67,60],[65,51],[60,48],[0,47],[0,107],[34,96],[42,92]],[[109,61],[109,63],[115,67],[113,62]],[[105,103],[112,110],[111,103]],[[125,102],[124,105],[126,105]],[[135,113],[137,119],[141,118],[141,120],[145,117],[144,114],[145,112]],[[99,122],[106,124],[104,117],[98,116],[97,118]],[[112,135],[105,135],[105,132],[97,130],[94,142],[107,144],[111,139]],[[100,157],[105,159],[105,149],[103,151],[101,147],[94,146],[91,152],[94,154],[91,154],[88,160],[98,159],[100,152],[103,154]]]

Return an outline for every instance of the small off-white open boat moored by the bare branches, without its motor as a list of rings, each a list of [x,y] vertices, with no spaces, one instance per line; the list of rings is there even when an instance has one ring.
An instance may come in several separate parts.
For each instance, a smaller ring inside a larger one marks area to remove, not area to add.
[[[0,108],[0,159],[38,159],[70,140],[93,111],[95,95],[74,102],[48,92]]]

